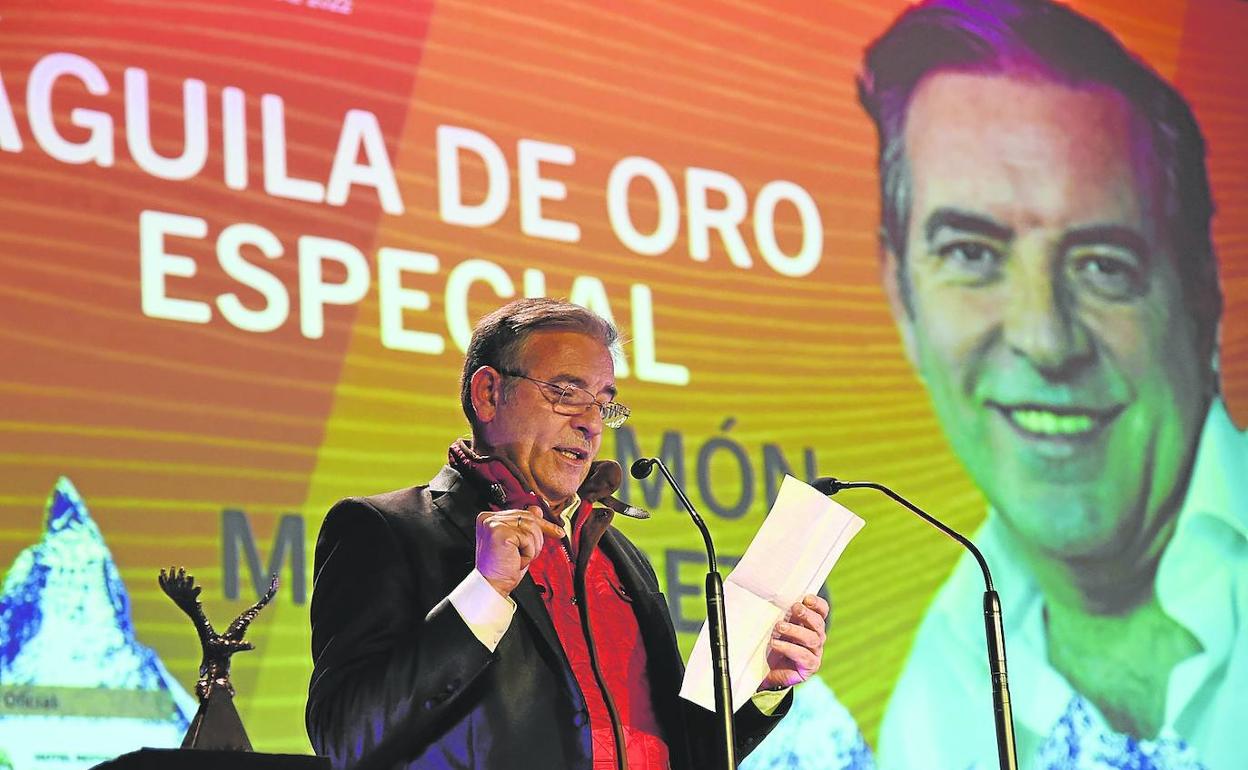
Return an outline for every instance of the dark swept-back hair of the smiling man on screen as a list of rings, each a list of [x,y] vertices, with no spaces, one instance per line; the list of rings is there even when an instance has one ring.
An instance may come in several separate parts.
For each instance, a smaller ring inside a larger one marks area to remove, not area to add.
[[[911,188],[905,127],[912,95],[935,72],[1001,74],[1077,89],[1108,89],[1141,121],[1132,147],[1149,180],[1148,216],[1173,255],[1199,344],[1212,359],[1222,291],[1209,233],[1206,149],[1184,99],[1104,27],[1047,0],[932,0],[904,12],[866,52],[859,99],[879,134],[881,238],[904,275]],[[1161,250],[1159,250],[1161,251]]]

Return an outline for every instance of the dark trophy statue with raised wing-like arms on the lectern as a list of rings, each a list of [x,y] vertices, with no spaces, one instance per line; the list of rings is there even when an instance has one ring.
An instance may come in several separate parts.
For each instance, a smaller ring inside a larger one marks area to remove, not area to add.
[[[203,614],[203,607],[200,604],[201,588],[195,584],[195,575],[186,574],[186,570],[181,568],[175,572],[170,567],[168,573],[163,569],[160,570],[158,582],[161,590],[195,623],[195,630],[200,635],[200,646],[203,648],[200,679],[195,683],[195,694],[200,696],[200,709],[195,713],[195,719],[191,720],[191,726],[186,730],[182,748],[251,751],[247,731],[243,729],[238,710],[233,705],[230,656],[235,653],[255,649],[255,645],[243,641],[242,636],[260,610],[277,593],[277,575],[272,577],[268,590],[260,598],[260,602],[235,618],[223,634],[218,634]]]

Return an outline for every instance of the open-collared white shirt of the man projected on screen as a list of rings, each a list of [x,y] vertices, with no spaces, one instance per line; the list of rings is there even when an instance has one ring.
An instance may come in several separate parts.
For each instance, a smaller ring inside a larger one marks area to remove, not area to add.
[[[1020,770],[1244,766],[1248,713],[1248,436],[1221,401],[1206,419],[1196,465],[1156,590],[1202,651],[1169,676],[1157,736],[1128,740],[1106,725],[1048,661],[1045,608],[1010,538],[990,513],[975,538],[1001,594]],[[997,766],[983,650],[978,567],[962,558],[924,618],[880,734],[884,770]],[[1154,764],[1131,764],[1148,756]]]

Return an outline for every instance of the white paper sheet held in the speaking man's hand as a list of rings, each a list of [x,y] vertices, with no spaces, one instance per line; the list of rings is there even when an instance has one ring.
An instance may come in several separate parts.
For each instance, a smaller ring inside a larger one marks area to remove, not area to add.
[[[754,695],[768,675],[771,629],[804,595],[819,593],[832,565],[865,522],[849,508],[791,475],[745,555],[724,580],[728,668],[733,710]],[[680,696],[715,709],[710,629],[703,623],[685,669]]]

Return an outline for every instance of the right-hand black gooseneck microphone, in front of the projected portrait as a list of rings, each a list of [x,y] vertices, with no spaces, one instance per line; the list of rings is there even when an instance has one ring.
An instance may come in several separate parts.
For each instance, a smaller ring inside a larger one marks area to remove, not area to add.
[[[1010,706],[1010,680],[1006,674],[1006,633],[1001,621],[1001,598],[997,597],[997,592],[992,588],[992,573],[988,572],[988,563],[983,559],[983,554],[968,539],[884,484],[875,482],[841,482],[831,477],[824,477],[815,479],[811,485],[827,495],[834,495],[841,489],[875,489],[876,492],[882,492],[936,529],[961,543],[963,548],[971,552],[975,560],[980,563],[980,570],[983,572],[983,633],[988,645],[988,671],[992,676],[992,716],[997,729],[997,760],[1000,761],[1001,770],[1018,770],[1013,734],[1013,710]]]

